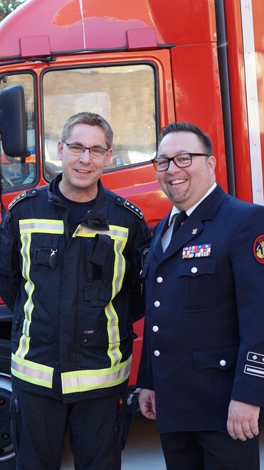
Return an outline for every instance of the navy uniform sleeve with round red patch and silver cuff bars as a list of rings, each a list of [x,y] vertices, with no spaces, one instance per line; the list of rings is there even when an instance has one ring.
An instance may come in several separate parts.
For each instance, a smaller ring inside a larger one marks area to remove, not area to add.
[[[264,208],[245,216],[231,251],[240,347],[231,398],[264,406]]]

